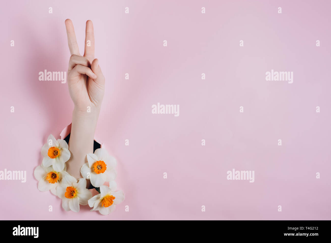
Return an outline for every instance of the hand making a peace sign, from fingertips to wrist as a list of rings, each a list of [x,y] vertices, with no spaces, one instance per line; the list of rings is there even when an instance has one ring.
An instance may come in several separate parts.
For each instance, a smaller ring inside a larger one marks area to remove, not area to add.
[[[70,60],[68,68],[68,87],[75,109],[85,113],[100,110],[105,91],[105,77],[101,72],[98,59],[94,59],[94,30],[91,20],[86,21],[84,56],[80,56],[72,21],[65,21]],[[90,41],[90,42],[88,42]],[[90,43],[90,46],[88,46]]]

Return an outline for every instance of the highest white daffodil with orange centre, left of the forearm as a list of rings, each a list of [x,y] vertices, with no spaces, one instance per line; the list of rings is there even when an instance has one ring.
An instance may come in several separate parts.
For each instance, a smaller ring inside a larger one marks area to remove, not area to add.
[[[56,140],[51,134],[41,148],[41,155],[44,157],[42,160],[43,167],[46,168],[52,165],[55,171],[63,171],[65,163],[70,158],[70,151],[66,141]]]

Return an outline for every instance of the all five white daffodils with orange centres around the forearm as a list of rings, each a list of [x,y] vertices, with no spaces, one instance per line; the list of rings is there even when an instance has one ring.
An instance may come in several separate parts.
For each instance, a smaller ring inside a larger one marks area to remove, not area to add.
[[[49,135],[47,142],[41,148],[44,157],[41,166],[34,170],[40,191],[50,190],[62,199],[62,207],[66,211],[79,212],[79,205],[89,205],[91,211],[98,210],[102,215],[108,215],[115,210],[117,204],[124,200],[123,191],[116,190],[116,159],[110,156],[106,149],[98,148],[94,153],[87,154],[87,161],[80,173],[83,178],[78,181],[66,171],[66,162],[70,151],[66,141]],[[86,179],[96,187],[99,194],[92,197],[92,192],[86,188]],[[109,182],[109,186],[103,185]]]

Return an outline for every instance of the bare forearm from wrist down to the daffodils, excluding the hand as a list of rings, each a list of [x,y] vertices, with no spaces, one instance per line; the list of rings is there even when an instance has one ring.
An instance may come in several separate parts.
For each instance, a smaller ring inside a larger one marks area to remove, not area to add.
[[[94,133],[98,122],[100,108],[91,112],[76,109],[72,112],[71,134],[69,150],[71,157],[67,164],[67,171],[76,179],[81,178],[80,168],[87,163],[86,154],[93,153]]]

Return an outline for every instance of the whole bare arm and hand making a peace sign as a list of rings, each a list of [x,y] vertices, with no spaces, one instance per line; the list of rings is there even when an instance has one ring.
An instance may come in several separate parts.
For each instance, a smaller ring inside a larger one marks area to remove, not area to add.
[[[97,126],[105,91],[105,77],[98,59],[94,59],[94,30],[91,20],[86,21],[84,55],[79,54],[72,21],[65,21],[70,60],[68,87],[74,104],[72,112],[69,150],[71,157],[66,163],[67,172],[76,179],[82,178],[80,168],[87,163],[86,154],[93,153],[94,132]],[[88,46],[90,41],[90,46]],[[87,107],[91,112],[87,112]],[[87,188],[90,186],[87,180]]]

